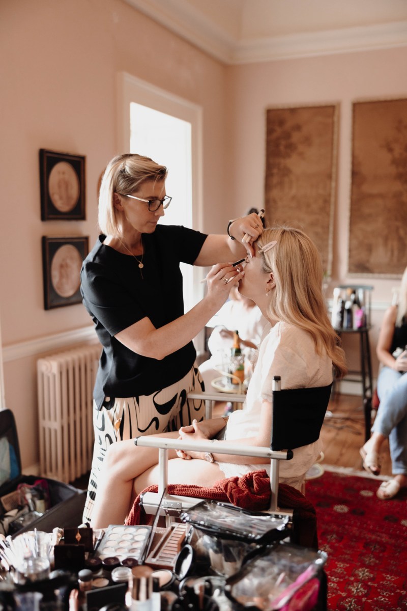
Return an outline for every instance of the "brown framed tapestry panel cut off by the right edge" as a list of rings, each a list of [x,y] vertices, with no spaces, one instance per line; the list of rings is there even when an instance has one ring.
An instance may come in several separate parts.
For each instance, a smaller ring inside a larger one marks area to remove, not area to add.
[[[407,263],[407,99],[353,102],[348,274],[398,278]]]

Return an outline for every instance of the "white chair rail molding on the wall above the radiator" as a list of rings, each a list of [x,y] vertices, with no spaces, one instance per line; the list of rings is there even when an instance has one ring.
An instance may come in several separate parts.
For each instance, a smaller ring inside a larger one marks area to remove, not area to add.
[[[95,342],[97,339],[95,327],[73,329],[73,331],[66,331],[55,335],[45,335],[35,340],[3,346],[2,359],[4,363],[10,360],[24,359],[27,356],[38,356],[38,354],[41,353],[64,349],[68,346],[73,346],[74,344],[82,342]]]

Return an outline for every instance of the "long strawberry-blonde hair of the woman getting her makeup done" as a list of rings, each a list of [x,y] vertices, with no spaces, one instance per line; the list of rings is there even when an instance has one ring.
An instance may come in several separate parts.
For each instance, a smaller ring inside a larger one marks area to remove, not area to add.
[[[292,227],[265,229],[258,247],[273,240],[276,245],[261,253],[263,271],[272,272],[276,284],[270,291],[267,314],[308,331],[317,353],[325,349],[337,376],[342,378],[347,372],[345,353],[322,295],[322,261],[317,247],[308,235]]]

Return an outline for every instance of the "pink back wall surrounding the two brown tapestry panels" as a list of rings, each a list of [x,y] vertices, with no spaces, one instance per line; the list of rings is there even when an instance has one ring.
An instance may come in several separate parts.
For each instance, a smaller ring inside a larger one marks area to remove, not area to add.
[[[248,202],[264,199],[265,115],[272,106],[339,103],[337,201],[334,218],[333,276],[327,290],[337,284],[373,285],[375,305],[370,333],[373,371],[374,347],[384,308],[391,301],[397,279],[348,277],[348,219],[351,178],[351,103],[361,99],[406,97],[407,47],[292,59],[231,67],[228,70],[229,163],[234,180],[231,194],[240,213]],[[374,126],[372,126],[374,129]],[[383,222],[386,219],[383,218]],[[407,262],[406,262],[407,265]],[[351,367],[358,364],[358,338],[345,337]]]

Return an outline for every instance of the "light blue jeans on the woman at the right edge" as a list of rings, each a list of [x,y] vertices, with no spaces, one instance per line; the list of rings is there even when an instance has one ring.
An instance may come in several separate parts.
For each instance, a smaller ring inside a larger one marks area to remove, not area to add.
[[[380,408],[372,432],[389,437],[393,474],[407,475],[407,373],[383,367],[377,393]]]

